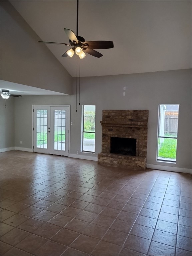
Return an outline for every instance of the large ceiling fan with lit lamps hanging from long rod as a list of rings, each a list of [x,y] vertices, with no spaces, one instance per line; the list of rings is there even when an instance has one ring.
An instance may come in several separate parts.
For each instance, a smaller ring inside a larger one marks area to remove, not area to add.
[[[78,36],[78,13],[79,13],[79,1],[77,0],[77,35],[70,29],[64,28],[65,33],[69,37],[69,43],[56,43],[56,42],[44,42],[39,41],[40,43],[45,44],[64,44],[67,46],[72,46],[69,50],[67,50],[62,57],[73,57],[74,53],[76,53],[80,59],[85,58],[88,53],[94,57],[100,58],[103,54],[93,50],[93,49],[109,49],[113,48],[112,41],[85,41],[85,39],[81,36]]]

